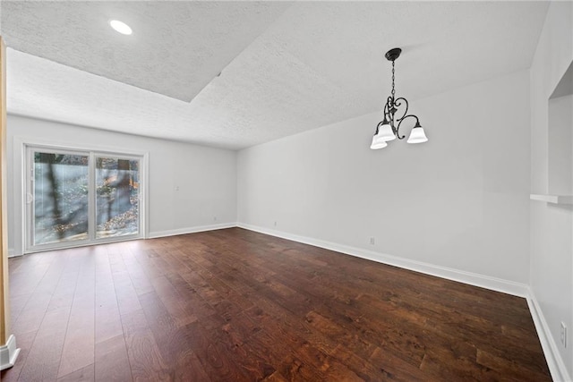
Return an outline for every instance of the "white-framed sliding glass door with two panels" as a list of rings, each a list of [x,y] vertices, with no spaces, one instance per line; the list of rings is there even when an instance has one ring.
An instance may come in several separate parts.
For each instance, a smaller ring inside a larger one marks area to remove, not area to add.
[[[141,157],[30,147],[29,251],[141,237]]]

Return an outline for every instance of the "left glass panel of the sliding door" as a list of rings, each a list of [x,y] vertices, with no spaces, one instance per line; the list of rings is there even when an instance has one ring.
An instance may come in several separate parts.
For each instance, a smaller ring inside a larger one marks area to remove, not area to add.
[[[33,245],[88,240],[89,156],[33,152]]]

